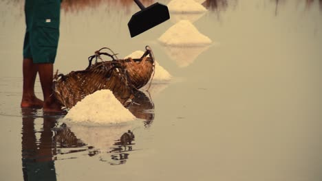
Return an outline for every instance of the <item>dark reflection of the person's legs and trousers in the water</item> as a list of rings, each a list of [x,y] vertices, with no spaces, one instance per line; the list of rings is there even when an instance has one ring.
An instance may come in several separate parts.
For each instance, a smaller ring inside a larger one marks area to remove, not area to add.
[[[53,159],[52,128],[56,123],[55,117],[43,117],[43,129],[36,132],[32,110],[23,109],[22,128],[22,165],[24,180],[56,180]],[[36,133],[41,134],[39,141]]]

